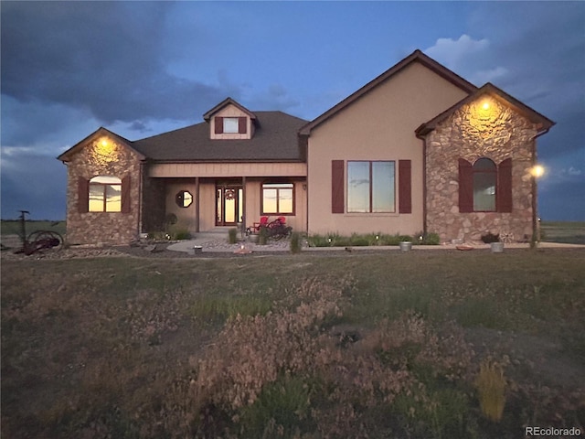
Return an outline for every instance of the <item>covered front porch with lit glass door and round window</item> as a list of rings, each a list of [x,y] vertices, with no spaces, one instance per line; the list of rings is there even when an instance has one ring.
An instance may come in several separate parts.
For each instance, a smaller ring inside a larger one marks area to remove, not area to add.
[[[144,181],[142,230],[168,227],[169,219],[191,234],[245,229],[261,216],[283,216],[306,231],[306,193],[303,163],[154,164]]]

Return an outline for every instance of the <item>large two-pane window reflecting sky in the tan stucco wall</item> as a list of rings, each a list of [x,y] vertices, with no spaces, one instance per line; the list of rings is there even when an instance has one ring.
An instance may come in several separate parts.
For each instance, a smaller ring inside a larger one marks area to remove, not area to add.
[[[347,162],[347,212],[395,211],[393,161]]]

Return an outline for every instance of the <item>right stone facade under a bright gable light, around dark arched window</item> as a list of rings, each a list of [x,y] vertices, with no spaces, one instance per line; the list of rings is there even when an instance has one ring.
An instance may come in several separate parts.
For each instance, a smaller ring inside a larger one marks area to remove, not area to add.
[[[532,176],[537,126],[488,96],[463,105],[426,137],[426,224],[441,240],[478,241],[486,232],[532,235]],[[511,213],[459,211],[459,168],[463,158],[499,165],[512,158]]]

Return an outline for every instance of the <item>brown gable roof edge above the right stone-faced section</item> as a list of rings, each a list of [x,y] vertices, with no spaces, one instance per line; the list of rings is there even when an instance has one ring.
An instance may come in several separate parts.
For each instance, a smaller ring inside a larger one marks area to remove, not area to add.
[[[527,104],[518,101],[516,98],[510,96],[505,91],[498,89],[491,82],[487,82],[484,86],[477,89],[469,96],[463,98],[460,102],[455,103],[451,108],[441,112],[441,114],[432,118],[429,122],[422,123],[420,127],[415,130],[415,133],[418,137],[422,137],[431,133],[431,131],[434,130],[439,123],[451,116],[453,112],[456,112],[463,105],[469,102],[480,99],[480,97],[484,94],[489,95],[498,102],[502,102],[506,106],[512,107],[516,112],[524,115],[530,122],[537,123],[539,133],[546,132],[548,129],[550,129],[551,126],[555,124],[553,121],[548,119],[548,117],[543,116],[539,112],[536,112],[532,108],[528,107]]]

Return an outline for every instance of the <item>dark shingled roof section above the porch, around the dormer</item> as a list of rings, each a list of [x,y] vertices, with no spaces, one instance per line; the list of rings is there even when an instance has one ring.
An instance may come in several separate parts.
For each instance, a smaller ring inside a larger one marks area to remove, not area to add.
[[[308,121],[284,112],[254,112],[256,128],[251,139],[209,138],[206,122],[132,143],[134,149],[155,161],[302,161],[299,129]]]

